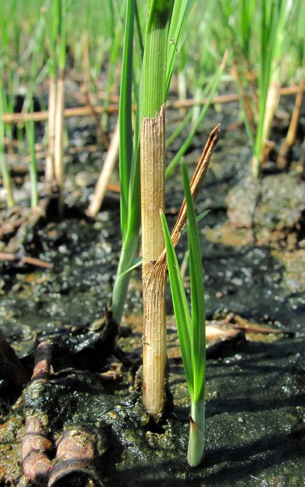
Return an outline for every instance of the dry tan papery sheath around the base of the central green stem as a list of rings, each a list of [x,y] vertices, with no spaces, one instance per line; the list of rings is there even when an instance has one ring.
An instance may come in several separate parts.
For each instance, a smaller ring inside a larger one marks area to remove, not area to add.
[[[164,249],[160,209],[164,210],[165,106],[141,126],[141,214],[143,282],[143,404],[158,414],[165,401],[165,272],[154,263]]]

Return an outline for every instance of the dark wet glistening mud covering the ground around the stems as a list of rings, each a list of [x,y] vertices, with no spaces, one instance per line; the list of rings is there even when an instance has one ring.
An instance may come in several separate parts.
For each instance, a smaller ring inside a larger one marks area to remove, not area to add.
[[[157,426],[142,409],[140,391],[133,388],[141,363],[140,269],[133,271],[119,353],[107,345],[102,319],[120,252],[119,206],[110,195],[95,222],[82,213],[93,186],[90,182],[79,186],[76,175],[84,170],[96,174],[100,162],[98,152],[89,156],[88,151],[87,156],[74,156],[68,166],[66,218],[61,223],[50,219],[24,241],[26,255],[48,262],[52,268],[18,267],[10,262],[1,266],[0,329],[29,380],[23,392],[14,385],[14,377],[0,384],[0,486],[25,485],[21,447],[27,422],[34,425],[33,417],[38,418],[35,425],[40,430],[33,427],[30,434],[44,438],[46,458],[57,466],[54,474],[51,470],[53,476],[49,472],[40,480],[37,477],[34,485],[47,485],[46,478],[51,478],[50,486],[67,482],[106,487],[304,485],[305,182],[299,163],[301,146],[294,149],[288,172],[276,171],[270,161],[268,171],[253,181],[244,131],[227,130],[237,114],[235,104],[214,112],[186,155],[191,175],[210,129],[222,124],[222,137],[197,201],[198,213],[210,209],[200,222],[207,318],[233,313],[258,329],[267,327],[280,333],[235,330],[231,337],[210,333],[203,466],[191,469],[186,461],[190,400],[170,289],[168,355],[174,408]],[[168,114],[169,130],[175,128],[173,116]],[[92,143],[91,130],[73,131],[71,140],[78,140],[76,145],[86,145],[84,140]],[[168,150],[169,160],[174,150]],[[91,169],[86,165],[89,157]],[[166,196],[172,226],[182,199],[180,170],[176,169],[168,180]],[[186,246],[184,237],[177,247],[180,261]],[[43,380],[30,380],[33,353],[41,342],[51,350],[52,367]],[[112,381],[103,375],[109,371],[114,373]],[[85,456],[81,468],[69,456],[69,451],[79,452],[80,445]],[[64,473],[56,473],[61,468]],[[80,471],[86,471],[87,477],[80,479]]]

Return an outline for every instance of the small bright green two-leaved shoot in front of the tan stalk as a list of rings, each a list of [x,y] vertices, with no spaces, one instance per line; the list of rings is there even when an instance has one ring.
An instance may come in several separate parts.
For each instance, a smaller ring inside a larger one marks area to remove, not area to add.
[[[177,256],[164,213],[161,221],[181,354],[191,395],[188,462],[196,467],[204,455],[205,376],[206,376],[206,311],[198,228],[185,163],[182,163],[183,186],[187,204],[188,243],[191,281],[191,315],[180,274]]]

